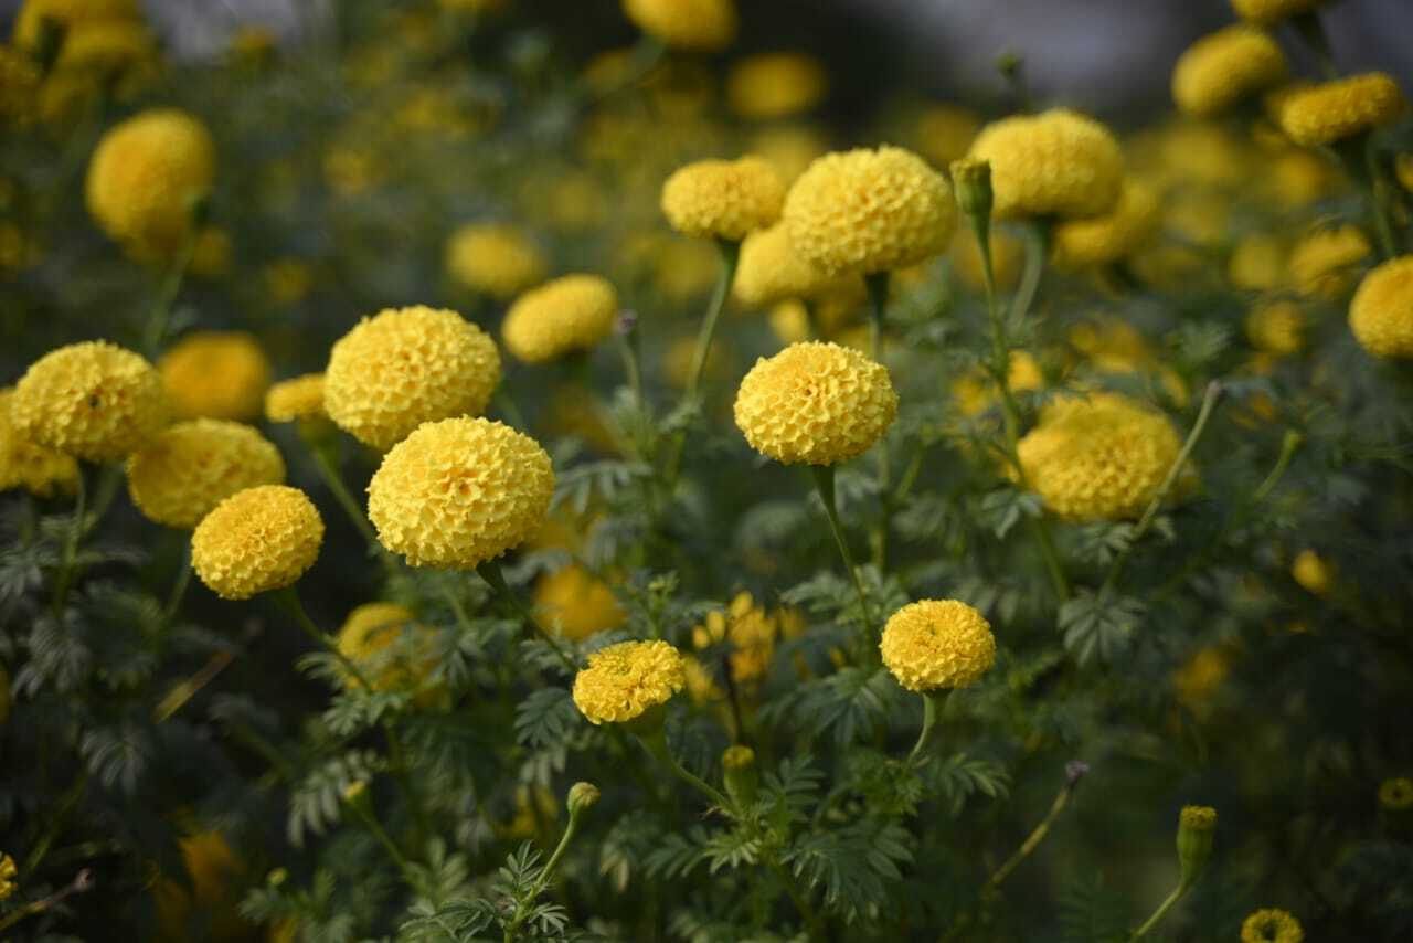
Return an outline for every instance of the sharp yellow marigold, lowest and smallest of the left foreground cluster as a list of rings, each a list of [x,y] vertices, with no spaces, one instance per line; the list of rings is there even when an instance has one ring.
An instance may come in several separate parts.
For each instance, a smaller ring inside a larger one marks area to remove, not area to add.
[[[298,488],[237,491],[191,533],[191,566],[223,599],[292,585],[319,557],[324,519]]]

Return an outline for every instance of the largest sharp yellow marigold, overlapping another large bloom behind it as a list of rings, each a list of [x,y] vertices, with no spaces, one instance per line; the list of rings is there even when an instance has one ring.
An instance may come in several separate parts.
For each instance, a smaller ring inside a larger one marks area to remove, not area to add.
[[[554,496],[537,441],[486,418],[427,423],[367,485],[377,539],[414,567],[473,570],[533,537]]]

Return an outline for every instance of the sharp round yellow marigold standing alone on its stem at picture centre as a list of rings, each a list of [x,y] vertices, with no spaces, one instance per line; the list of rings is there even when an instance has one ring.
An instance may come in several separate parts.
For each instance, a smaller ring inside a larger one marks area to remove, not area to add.
[[[786,465],[846,462],[882,438],[896,416],[886,366],[818,341],[760,358],[736,392],[736,426],[746,441]]]

